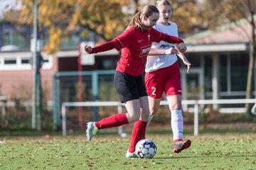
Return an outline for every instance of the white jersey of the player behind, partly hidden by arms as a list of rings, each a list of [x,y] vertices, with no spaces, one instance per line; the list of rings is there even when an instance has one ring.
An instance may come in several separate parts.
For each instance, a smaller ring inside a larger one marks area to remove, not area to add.
[[[166,33],[168,35],[178,37],[178,27],[176,23],[169,22],[169,26],[165,26],[157,21],[154,28],[159,30],[161,33]],[[170,47],[175,47],[175,45],[176,44],[160,41],[159,43],[154,42],[151,47],[164,50],[169,49]],[[153,72],[156,69],[169,67],[176,61],[176,55],[149,55],[146,61],[145,72]]]

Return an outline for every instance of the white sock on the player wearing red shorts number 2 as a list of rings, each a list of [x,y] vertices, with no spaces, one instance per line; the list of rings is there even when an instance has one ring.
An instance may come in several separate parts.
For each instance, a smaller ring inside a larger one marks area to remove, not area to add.
[[[174,140],[183,137],[183,115],[181,110],[171,110],[171,129],[174,134]]]

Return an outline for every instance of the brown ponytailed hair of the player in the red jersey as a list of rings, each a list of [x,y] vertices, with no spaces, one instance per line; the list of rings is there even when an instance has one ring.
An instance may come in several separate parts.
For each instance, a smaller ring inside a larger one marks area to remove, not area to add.
[[[132,18],[132,21],[129,23],[127,29],[134,27],[136,29],[142,29],[142,15],[145,15],[146,17],[149,17],[152,15],[152,13],[159,13],[159,10],[156,8],[156,6],[153,5],[146,5],[142,8],[142,11],[137,12],[134,17]],[[142,29],[143,30],[143,29]]]

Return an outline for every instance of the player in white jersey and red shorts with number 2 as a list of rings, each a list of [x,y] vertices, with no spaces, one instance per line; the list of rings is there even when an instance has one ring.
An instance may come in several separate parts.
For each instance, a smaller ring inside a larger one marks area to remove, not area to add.
[[[171,18],[171,4],[169,1],[160,0],[156,2],[159,9],[159,20],[154,28],[162,33],[178,37],[176,23],[169,22]],[[145,84],[149,95],[149,121],[159,109],[161,96],[166,94],[171,110],[171,129],[174,134],[174,153],[190,147],[190,140],[183,140],[183,115],[181,107],[181,75],[178,67],[177,57],[187,65],[187,72],[191,68],[190,62],[183,53],[176,49],[176,44],[161,41],[154,42],[149,52],[145,68]]]

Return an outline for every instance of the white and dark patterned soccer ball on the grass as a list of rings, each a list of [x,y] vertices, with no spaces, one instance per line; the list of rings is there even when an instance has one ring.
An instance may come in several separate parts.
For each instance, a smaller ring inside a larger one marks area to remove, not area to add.
[[[156,154],[156,144],[150,139],[140,140],[135,151],[139,158],[153,158]]]

